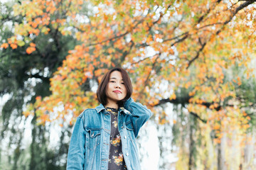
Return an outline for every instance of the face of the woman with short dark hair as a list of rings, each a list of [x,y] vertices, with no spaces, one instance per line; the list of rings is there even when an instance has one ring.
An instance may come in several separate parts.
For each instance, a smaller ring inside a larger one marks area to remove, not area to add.
[[[110,74],[110,81],[107,84],[107,104],[117,103],[127,96],[127,89],[124,86],[121,72],[114,71]]]

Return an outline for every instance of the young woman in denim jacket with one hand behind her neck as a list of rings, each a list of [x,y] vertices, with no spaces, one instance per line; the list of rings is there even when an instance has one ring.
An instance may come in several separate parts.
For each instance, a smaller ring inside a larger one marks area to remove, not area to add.
[[[76,120],[67,169],[139,170],[135,138],[152,113],[131,98],[132,82],[122,68],[110,69],[97,89],[101,103]]]

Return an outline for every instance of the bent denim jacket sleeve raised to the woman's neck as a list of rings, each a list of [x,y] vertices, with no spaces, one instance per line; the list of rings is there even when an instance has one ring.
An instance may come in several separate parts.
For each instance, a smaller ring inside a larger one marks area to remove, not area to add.
[[[142,106],[141,103],[134,102],[132,98],[124,102],[124,108],[132,115],[131,120],[134,127],[134,135],[137,137],[139,129],[142,128],[142,125],[149,120],[153,113],[146,106]]]

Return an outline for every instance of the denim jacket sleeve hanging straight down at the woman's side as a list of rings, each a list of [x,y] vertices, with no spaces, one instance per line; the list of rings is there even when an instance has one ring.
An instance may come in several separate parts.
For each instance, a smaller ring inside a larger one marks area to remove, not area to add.
[[[82,170],[85,164],[85,128],[82,117],[78,117],[68,149],[67,170]]]

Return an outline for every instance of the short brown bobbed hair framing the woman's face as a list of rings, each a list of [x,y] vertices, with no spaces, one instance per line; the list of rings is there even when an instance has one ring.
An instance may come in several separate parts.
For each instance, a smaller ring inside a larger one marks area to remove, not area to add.
[[[119,67],[110,69],[103,77],[102,80],[100,81],[100,84],[97,88],[97,99],[100,103],[102,103],[103,106],[107,104],[107,84],[110,81],[110,74],[114,71],[118,71],[122,74],[122,79],[124,81],[124,86],[127,89],[127,95],[124,97],[122,101],[118,101],[117,104],[119,107],[122,107],[124,105],[124,101],[127,101],[132,96],[132,81],[129,78],[129,75],[127,72]]]

